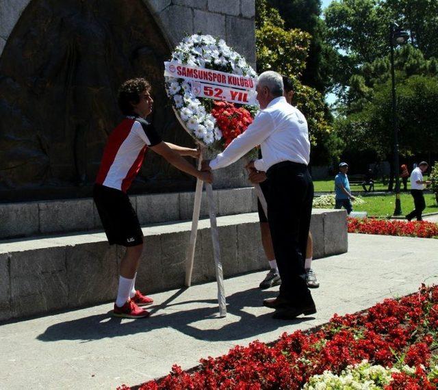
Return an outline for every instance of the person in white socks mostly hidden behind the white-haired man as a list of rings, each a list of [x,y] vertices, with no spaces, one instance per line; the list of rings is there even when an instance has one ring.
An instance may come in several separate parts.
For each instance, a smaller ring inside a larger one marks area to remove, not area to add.
[[[292,97],[294,96],[294,86],[292,84],[291,79],[283,76],[283,86],[284,86],[283,96],[285,97],[287,103],[292,105]],[[259,155],[259,158],[261,158],[261,155]],[[250,170],[248,179],[253,184],[259,183],[261,191],[263,192],[266,201],[268,201],[267,198],[269,193],[269,180],[266,177],[266,172],[257,171],[255,169]],[[261,207],[261,203],[258,199],[257,199],[257,209],[259,211],[261,244],[263,246],[263,250],[265,252],[266,258],[268,259],[268,263],[270,266],[270,271],[263,279],[263,281],[261,281],[259,288],[268,289],[276,285],[281,285],[281,278],[279,274],[279,268],[275,260],[274,247],[272,246],[272,238],[269,229],[268,218],[266,218],[265,211],[263,211],[263,207]],[[307,283],[307,287],[315,289],[320,287],[320,282],[318,281],[318,278],[316,278],[315,272],[313,272],[313,270],[311,269],[312,258],[313,258],[313,237],[309,231],[309,237],[307,237],[306,257],[305,257],[306,283]]]

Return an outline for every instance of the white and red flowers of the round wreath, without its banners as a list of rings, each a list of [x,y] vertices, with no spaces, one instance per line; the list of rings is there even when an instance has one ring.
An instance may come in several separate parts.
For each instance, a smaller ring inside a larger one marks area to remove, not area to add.
[[[240,77],[257,77],[244,57],[227,46],[224,40],[210,35],[194,34],[184,38],[170,61]],[[181,125],[196,141],[215,151],[222,151],[245,131],[259,109],[256,105],[236,107],[227,101],[213,100],[214,96],[196,96],[193,83],[187,79],[166,75],[165,84]]]

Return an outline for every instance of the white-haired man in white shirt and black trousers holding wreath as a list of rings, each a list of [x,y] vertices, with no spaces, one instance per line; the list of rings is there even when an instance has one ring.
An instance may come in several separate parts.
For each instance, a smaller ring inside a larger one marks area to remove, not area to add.
[[[279,73],[264,72],[257,81],[261,112],[215,159],[205,161],[203,170],[229,166],[261,145],[263,159],[249,168],[266,172],[270,180],[268,222],[279,272],[279,296],[263,301],[276,309],[274,318],[290,320],[300,314],[316,313],[306,284],[305,252],[313,200],[313,182],[307,166],[310,142],[307,121],[283,96]]]

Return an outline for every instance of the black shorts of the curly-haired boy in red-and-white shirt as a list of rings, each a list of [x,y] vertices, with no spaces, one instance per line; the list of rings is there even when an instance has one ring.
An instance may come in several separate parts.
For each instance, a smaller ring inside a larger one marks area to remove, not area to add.
[[[125,192],[94,184],[93,198],[110,245],[136,246],[143,243],[140,222]]]

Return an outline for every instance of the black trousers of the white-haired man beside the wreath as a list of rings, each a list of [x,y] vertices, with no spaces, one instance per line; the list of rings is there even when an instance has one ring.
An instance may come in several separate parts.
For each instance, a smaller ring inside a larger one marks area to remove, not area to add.
[[[313,182],[304,164],[282,161],[268,169],[268,222],[281,276],[281,298],[296,307],[313,302],[306,284],[305,254]]]

